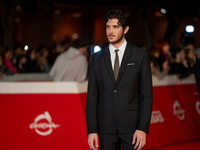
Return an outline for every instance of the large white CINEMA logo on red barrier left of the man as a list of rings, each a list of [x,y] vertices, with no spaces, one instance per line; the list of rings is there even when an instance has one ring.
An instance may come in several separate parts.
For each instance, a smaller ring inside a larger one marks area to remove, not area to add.
[[[44,120],[44,119],[46,119],[48,123],[45,123],[45,122],[38,123],[40,120]],[[57,127],[60,127],[60,125],[52,122],[52,118],[48,111],[45,111],[44,114],[38,115],[35,118],[34,123],[31,123],[29,125],[30,129],[35,129],[35,132],[37,132],[39,135],[42,135],[42,136],[47,136],[51,134],[53,131],[53,128],[56,129]],[[48,130],[45,131],[45,129],[48,129]]]

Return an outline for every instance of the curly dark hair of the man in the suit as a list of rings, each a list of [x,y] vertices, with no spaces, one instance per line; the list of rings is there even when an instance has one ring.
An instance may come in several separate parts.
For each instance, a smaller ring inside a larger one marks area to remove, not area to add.
[[[120,9],[112,9],[110,10],[107,14],[106,17],[104,18],[104,23],[106,24],[109,19],[118,19],[118,25],[121,25],[123,30],[129,26],[129,17],[128,15],[120,10]]]

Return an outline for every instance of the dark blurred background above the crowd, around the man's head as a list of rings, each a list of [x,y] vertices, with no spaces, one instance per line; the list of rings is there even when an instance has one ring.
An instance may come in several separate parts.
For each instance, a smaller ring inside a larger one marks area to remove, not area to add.
[[[41,44],[51,46],[69,36],[90,44],[107,43],[103,18],[110,9],[121,9],[130,17],[126,39],[147,48],[159,39],[180,46],[181,33],[193,25],[195,46],[200,47],[200,7],[194,0],[67,1],[1,0],[0,45],[13,48]],[[166,14],[161,13],[161,8]],[[78,35],[78,37],[77,37]]]

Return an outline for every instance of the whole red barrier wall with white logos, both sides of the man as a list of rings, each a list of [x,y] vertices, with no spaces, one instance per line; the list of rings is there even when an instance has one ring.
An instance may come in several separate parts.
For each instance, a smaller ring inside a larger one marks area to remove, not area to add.
[[[167,79],[165,79],[167,80]],[[0,83],[1,150],[89,150],[85,83]],[[154,82],[144,149],[200,139],[196,84]]]

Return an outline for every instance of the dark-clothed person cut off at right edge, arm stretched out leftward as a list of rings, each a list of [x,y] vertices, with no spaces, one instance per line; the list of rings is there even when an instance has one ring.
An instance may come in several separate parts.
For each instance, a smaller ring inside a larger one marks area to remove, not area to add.
[[[191,56],[192,56],[192,54],[191,54]],[[196,52],[196,58],[197,58],[197,60],[194,63],[194,65],[188,71],[179,75],[179,78],[183,79],[183,78],[189,76],[190,74],[194,74],[195,80],[197,83],[197,89],[198,89],[198,92],[200,93],[200,49],[198,49]],[[199,94],[199,96],[200,96],[200,94]]]

